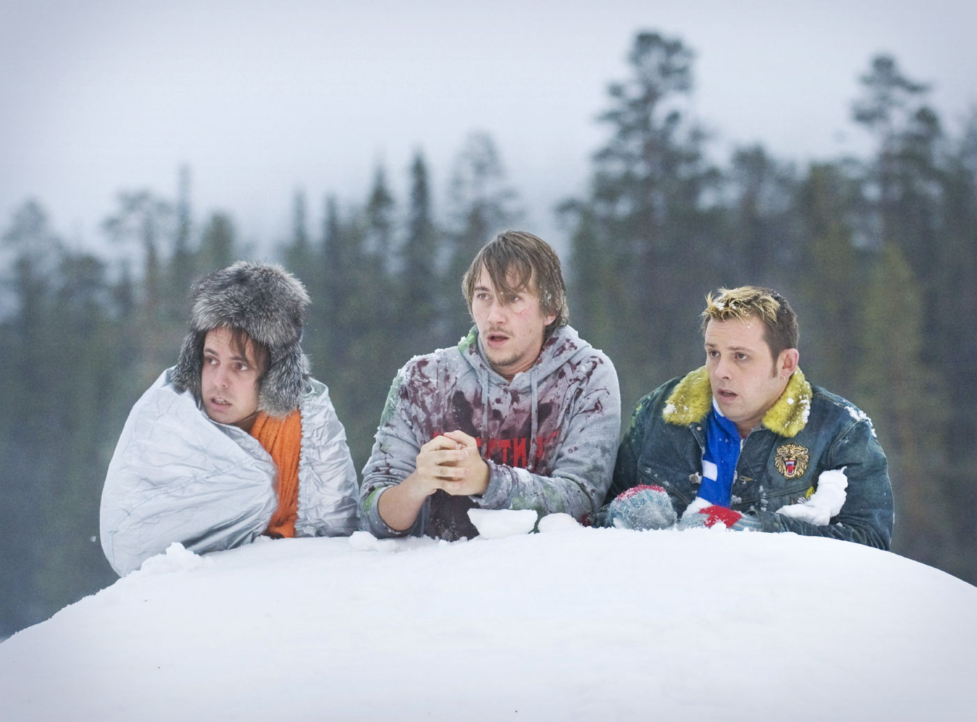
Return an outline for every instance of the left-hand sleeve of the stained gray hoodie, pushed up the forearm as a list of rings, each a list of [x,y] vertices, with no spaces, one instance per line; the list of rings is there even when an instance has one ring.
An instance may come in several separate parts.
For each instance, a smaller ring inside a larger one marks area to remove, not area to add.
[[[373,449],[363,467],[363,483],[360,488],[360,527],[377,538],[417,535],[424,527],[427,504],[417,515],[410,529],[399,531],[387,526],[380,516],[378,501],[387,488],[396,487],[414,472],[417,454],[423,442],[418,438],[417,424],[404,410],[402,387],[408,366],[394,377],[387,394],[380,425],[373,440]]]

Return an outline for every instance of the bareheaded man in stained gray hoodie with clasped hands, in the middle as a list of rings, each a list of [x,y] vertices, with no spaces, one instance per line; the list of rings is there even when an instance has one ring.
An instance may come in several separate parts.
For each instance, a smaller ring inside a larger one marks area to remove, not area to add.
[[[589,522],[611,484],[620,396],[614,364],[567,325],[559,258],[507,231],[462,290],[475,326],[394,379],[363,469],[363,528],[471,538],[479,508]]]

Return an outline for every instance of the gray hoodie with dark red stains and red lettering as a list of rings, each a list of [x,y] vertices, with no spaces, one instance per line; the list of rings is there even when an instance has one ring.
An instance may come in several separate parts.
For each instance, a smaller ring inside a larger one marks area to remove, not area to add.
[[[380,494],[413,473],[421,446],[454,430],[479,442],[485,494],[436,491],[413,527],[391,529],[377,511]],[[363,468],[362,528],[378,537],[471,538],[478,531],[467,512],[479,507],[565,512],[588,524],[610,487],[619,433],[614,363],[572,327],[554,331],[512,381],[491,369],[472,328],[456,348],[411,359],[394,379]]]

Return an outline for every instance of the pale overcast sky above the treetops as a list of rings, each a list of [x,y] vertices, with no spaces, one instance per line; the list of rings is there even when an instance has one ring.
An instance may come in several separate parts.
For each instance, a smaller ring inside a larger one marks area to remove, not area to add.
[[[694,112],[725,160],[760,142],[804,162],[857,151],[858,76],[892,54],[951,131],[977,106],[977,3],[960,0],[3,0],[0,229],[28,197],[94,244],[118,191],[173,196],[197,221],[288,233],[292,196],[360,203],[385,164],[399,199],[422,149],[443,201],[474,130],[495,140],[527,211],[584,191],[608,137],[594,118],[638,30],[696,52]],[[318,226],[317,226],[318,228]]]

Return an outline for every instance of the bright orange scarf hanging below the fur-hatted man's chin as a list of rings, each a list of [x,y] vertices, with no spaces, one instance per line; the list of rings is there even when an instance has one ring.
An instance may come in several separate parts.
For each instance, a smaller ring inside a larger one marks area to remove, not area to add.
[[[302,448],[302,415],[292,411],[283,419],[262,411],[254,420],[251,436],[272,454],[278,467],[278,508],[264,533],[294,536],[299,517],[299,453]]]

